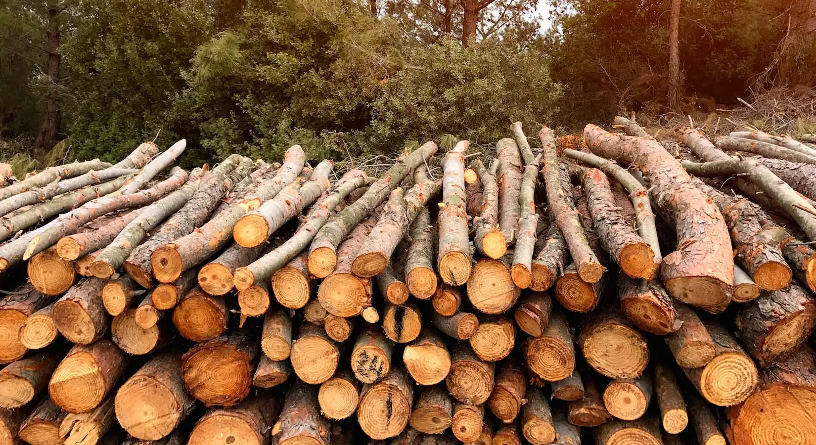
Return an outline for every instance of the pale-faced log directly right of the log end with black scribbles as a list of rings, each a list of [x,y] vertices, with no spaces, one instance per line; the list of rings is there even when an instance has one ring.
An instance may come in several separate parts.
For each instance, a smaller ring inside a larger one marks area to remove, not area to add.
[[[402,363],[419,385],[436,385],[450,372],[450,354],[442,337],[425,327],[416,340],[402,351]]]

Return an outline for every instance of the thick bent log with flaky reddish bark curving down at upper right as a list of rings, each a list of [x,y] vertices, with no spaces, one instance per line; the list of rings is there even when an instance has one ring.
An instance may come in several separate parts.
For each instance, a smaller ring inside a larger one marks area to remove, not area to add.
[[[675,225],[677,251],[663,258],[663,282],[676,299],[712,312],[725,309],[734,283],[730,237],[720,211],[657,141],[614,135],[588,125],[589,149],[638,166],[660,211]],[[698,234],[706,234],[700,240]]]

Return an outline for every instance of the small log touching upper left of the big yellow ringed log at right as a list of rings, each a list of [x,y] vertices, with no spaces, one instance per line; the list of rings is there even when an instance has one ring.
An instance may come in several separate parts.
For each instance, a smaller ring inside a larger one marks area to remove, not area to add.
[[[712,336],[690,306],[676,303],[675,309],[681,324],[665,337],[666,344],[681,367],[706,366],[714,358],[716,349]]]

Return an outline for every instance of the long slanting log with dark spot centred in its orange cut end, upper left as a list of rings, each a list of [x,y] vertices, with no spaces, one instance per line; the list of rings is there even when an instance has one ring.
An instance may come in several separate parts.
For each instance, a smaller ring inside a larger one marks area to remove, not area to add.
[[[206,224],[190,234],[158,247],[150,256],[153,277],[160,283],[172,283],[187,269],[201,264],[203,260],[224,247],[230,239],[237,220],[248,211],[274,198],[286,185],[290,184],[303,170],[305,154],[299,145],[286,150],[283,166],[272,180],[264,181],[246,194],[218,212]]]

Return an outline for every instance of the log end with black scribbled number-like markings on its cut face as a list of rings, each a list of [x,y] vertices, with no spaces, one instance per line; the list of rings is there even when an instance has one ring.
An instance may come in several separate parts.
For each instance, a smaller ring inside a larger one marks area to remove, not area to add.
[[[393,343],[378,327],[370,326],[357,334],[352,349],[354,376],[363,383],[374,383],[391,370]]]

